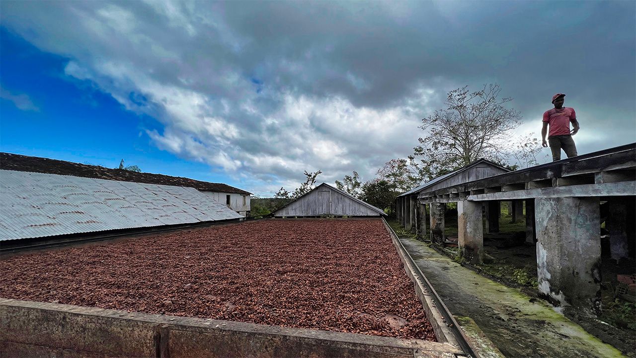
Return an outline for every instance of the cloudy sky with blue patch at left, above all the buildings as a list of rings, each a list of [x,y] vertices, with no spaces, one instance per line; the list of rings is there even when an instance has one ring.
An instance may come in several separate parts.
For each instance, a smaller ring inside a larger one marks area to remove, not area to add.
[[[369,180],[448,90],[499,83],[517,135],[567,94],[583,154],[636,141],[635,19],[633,1],[1,1],[0,150],[270,196],[304,170]]]

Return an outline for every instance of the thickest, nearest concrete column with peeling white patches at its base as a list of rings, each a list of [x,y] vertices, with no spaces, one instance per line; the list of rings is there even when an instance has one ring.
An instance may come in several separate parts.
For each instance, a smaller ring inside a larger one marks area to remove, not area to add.
[[[600,313],[600,199],[535,199],[539,294]]]

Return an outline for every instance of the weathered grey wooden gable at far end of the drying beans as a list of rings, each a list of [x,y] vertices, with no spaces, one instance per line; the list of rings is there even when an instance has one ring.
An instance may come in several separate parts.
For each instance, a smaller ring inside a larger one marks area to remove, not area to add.
[[[307,194],[274,211],[274,217],[379,217],[384,211],[351,196],[347,192],[322,183]]]

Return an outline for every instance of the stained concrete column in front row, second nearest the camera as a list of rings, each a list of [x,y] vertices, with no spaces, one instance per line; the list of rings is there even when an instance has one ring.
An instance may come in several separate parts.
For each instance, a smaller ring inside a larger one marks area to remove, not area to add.
[[[483,262],[483,226],[481,222],[480,202],[457,202],[460,255],[468,261],[478,264]]]

